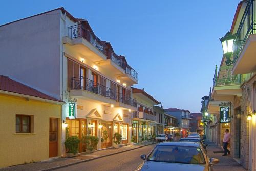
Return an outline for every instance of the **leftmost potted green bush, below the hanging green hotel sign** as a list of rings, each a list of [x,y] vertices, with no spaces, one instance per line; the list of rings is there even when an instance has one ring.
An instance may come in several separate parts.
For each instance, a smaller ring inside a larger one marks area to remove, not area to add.
[[[74,157],[78,154],[78,144],[80,140],[77,136],[68,136],[66,137],[65,147],[66,147],[66,156]]]

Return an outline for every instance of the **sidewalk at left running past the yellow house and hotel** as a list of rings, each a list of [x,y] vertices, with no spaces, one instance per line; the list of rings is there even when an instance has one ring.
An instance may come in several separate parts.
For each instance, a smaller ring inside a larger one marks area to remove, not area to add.
[[[58,158],[53,160],[48,160],[44,162],[35,162],[35,163],[29,163],[29,164],[22,164],[22,165],[16,165],[11,166],[7,168],[0,168],[0,171],[50,171],[55,170],[62,167],[67,167],[70,165],[87,162],[91,160],[95,160],[98,158],[142,148],[143,146],[151,145],[152,143],[143,143],[143,144],[135,144],[135,145],[126,145],[122,146],[119,149],[105,149],[105,150],[98,150],[94,153],[81,153],[78,154],[77,157],[73,158]]]

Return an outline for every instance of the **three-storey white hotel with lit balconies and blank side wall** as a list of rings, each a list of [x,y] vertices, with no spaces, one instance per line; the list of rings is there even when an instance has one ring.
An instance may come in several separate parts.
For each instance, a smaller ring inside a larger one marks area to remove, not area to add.
[[[0,37],[6,56],[0,73],[66,102],[61,122],[70,135],[97,136],[98,149],[111,147],[115,132],[122,134],[122,144],[130,143],[131,113],[137,111],[131,86],[138,83],[138,74],[87,20],[58,8],[0,26]]]

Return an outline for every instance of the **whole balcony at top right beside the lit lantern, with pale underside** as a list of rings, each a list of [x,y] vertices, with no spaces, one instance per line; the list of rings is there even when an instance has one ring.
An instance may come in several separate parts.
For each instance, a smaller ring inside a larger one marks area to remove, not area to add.
[[[244,74],[256,71],[256,20],[255,2],[248,0],[244,14],[234,39],[233,74]]]

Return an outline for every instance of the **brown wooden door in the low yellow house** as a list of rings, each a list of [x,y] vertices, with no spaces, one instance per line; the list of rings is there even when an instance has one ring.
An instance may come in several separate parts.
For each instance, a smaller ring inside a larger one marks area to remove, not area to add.
[[[58,118],[49,120],[49,157],[58,156]]]

